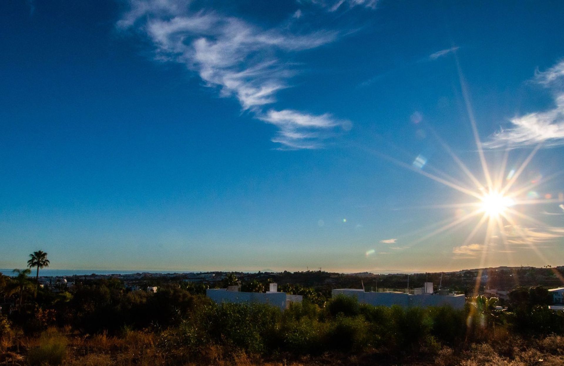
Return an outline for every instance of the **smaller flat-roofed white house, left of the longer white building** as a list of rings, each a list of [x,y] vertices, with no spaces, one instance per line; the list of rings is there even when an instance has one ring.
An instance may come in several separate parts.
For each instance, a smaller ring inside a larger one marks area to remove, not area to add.
[[[290,295],[285,292],[277,292],[277,285],[270,284],[270,291],[264,292],[241,292],[240,286],[230,286],[227,289],[207,289],[206,296],[217,303],[263,303],[279,307],[284,310],[292,302],[302,302],[301,295]]]

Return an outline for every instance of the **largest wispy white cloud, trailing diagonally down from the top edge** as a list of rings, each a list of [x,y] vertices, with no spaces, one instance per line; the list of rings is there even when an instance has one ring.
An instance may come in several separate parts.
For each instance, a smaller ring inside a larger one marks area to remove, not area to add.
[[[294,20],[297,17],[299,13]],[[261,29],[238,17],[192,10],[190,2],[172,0],[130,0],[130,10],[117,27],[148,37],[156,60],[186,65],[206,86],[217,88],[219,95],[236,98],[243,110],[278,126],[272,141],[287,149],[320,148],[336,127],[350,125],[328,113],[315,116],[290,109],[263,109],[276,102],[276,92],[289,87],[289,79],[296,74],[280,56],[330,43],[338,37],[336,31],[300,33],[287,26]]]

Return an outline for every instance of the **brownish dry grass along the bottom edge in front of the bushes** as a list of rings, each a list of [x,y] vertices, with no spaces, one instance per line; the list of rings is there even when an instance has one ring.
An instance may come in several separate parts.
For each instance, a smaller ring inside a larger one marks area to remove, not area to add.
[[[268,359],[259,355],[233,350],[225,346],[207,345],[188,349],[174,345],[170,349],[157,341],[159,334],[143,331],[125,332],[120,337],[107,334],[78,336],[69,329],[50,329],[41,337],[29,338],[11,333],[0,339],[1,364],[62,364],[67,366],[102,365],[218,365],[218,366],[302,366],[302,365],[368,365],[374,364],[370,355],[303,356],[286,360],[283,355]],[[524,341],[519,337],[499,334],[490,343],[475,343],[464,350],[442,347],[430,355],[395,362],[397,364],[436,364],[439,366],[478,365],[564,365],[564,337],[548,336]],[[291,356],[291,355],[287,355]],[[419,359],[417,359],[419,358]],[[379,362],[378,362],[379,363]],[[388,363],[384,361],[384,363]],[[394,363],[394,361],[389,361]]]

